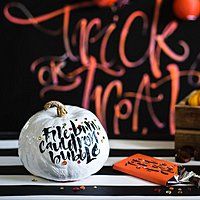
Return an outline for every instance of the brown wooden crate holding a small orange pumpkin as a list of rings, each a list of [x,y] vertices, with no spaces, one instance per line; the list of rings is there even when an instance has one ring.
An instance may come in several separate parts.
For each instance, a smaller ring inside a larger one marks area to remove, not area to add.
[[[175,149],[183,146],[200,147],[200,106],[187,104],[190,95],[175,106]]]

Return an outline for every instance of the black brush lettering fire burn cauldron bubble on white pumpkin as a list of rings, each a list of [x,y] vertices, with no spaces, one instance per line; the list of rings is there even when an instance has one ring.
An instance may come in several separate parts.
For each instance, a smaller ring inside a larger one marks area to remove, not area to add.
[[[97,132],[99,127],[91,121],[75,126],[70,121],[71,128],[63,126],[50,126],[42,130],[44,139],[39,144],[41,153],[48,151],[51,161],[54,164],[62,160],[81,161],[86,164],[96,159],[100,153]]]

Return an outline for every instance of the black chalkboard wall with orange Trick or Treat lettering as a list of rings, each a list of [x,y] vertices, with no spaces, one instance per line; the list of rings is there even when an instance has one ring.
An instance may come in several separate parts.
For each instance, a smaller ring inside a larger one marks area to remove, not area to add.
[[[174,105],[200,85],[199,20],[171,0],[91,4],[1,1],[0,130],[56,99],[96,113],[109,138],[173,139]]]

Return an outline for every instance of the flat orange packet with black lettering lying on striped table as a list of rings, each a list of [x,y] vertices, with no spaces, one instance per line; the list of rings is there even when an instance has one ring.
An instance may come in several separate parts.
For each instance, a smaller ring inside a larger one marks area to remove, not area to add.
[[[175,163],[142,154],[121,160],[115,163],[113,168],[160,185],[166,185],[178,171],[178,165]]]

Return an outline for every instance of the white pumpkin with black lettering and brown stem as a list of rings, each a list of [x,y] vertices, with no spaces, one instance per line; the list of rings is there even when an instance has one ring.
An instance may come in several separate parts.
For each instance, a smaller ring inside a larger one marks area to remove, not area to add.
[[[25,168],[34,175],[74,181],[103,167],[109,142],[92,112],[51,101],[24,125],[18,153]]]

